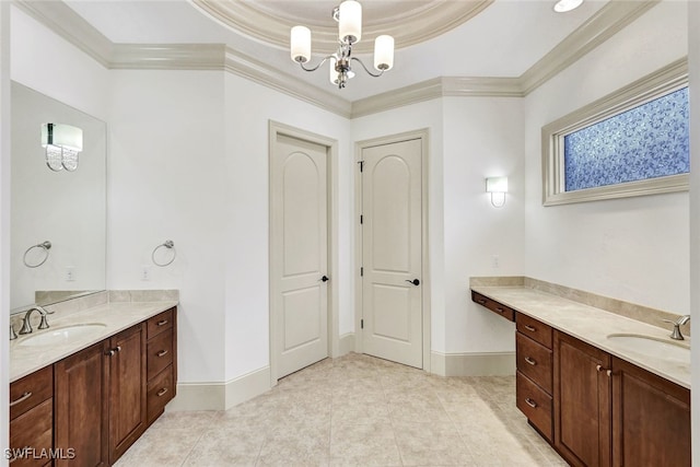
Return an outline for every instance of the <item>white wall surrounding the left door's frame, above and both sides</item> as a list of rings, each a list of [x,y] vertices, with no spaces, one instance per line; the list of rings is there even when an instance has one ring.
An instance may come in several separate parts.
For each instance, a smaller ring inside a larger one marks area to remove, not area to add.
[[[339,142],[337,179],[339,214],[339,331],[354,329],[352,229],[352,155],[346,118],[234,74],[225,77],[228,191],[220,202],[226,229],[226,378],[269,364],[269,120]]]

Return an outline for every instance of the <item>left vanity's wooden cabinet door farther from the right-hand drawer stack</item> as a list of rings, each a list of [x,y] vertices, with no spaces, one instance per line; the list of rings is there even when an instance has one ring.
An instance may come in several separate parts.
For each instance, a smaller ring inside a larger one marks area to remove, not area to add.
[[[107,342],[103,341],[54,366],[55,447],[75,456],[56,459],[56,466],[93,467],[108,463],[106,350]]]

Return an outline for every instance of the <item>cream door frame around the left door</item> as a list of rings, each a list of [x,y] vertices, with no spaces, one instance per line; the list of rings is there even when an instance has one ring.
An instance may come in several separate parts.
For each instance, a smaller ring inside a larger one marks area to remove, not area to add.
[[[268,121],[268,314],[269,314],[269,348],[270,348],[270,386],[276,386],[278,381],[279,362],[277,352],[279,350],[279,342],[277,342],[276,336],[279,329],[280,323],[277,318],[277,314],[273,310],[273,300],[276,293],[276,268],[275,260],[277,259],[273,254],[272,240],[278,235],[272,222],[272,159],[275,157],[275,142],[278,136],[283,135],[300,140],[313,142],[326,147],[326,210],[327,210],[327,238],[328,238],[328,276],[330,280],[327,282],[328,287],[328,357],[337,357],[340,349],[340,331],[339,331],[339,292],[338,287],[335,284],[338,275],[338,237],[339,237],[339,219],[338,219],[338,141],[331,138],[324,137],[311,131],[294,128],[289,125],[281,124],[279,121]]]

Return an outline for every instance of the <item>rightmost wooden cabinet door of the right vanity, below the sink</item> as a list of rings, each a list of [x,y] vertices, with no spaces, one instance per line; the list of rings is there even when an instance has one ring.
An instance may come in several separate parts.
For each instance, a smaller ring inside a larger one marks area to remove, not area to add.
[[[612,358],[615,466],[690,465],[690,390]]]

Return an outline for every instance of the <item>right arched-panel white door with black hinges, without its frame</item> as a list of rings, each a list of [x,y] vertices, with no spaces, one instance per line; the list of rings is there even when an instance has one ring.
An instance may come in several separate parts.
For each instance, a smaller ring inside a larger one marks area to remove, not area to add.
[[[422,141],[362,150],[365,353],[423,367]]]

